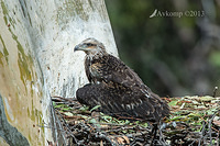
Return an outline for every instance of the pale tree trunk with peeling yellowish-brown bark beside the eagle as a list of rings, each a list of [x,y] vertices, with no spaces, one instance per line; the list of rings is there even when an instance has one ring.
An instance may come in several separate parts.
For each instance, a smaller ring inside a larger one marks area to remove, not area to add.
[[[87,82],[74,46],[96,37],[117,55],[105,2],[0,2],[0,145],[56,143],[61,131],[38,125],[59,128],[50,96],[75,97]]]

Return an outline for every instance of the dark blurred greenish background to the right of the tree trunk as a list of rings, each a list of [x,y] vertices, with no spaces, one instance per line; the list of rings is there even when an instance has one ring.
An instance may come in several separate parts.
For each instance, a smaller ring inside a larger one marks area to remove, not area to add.
[[[212,96],[220,86],[220,0],[106,0],[106,4],[120,58],[154,92]],[[155,9],[191,15],[150,18]]]

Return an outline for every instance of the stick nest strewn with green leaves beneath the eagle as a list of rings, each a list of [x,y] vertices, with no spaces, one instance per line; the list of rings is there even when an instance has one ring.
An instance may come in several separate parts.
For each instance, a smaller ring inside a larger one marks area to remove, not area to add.
[[[118,120],[89,110],[75,99],[52,98],[55,113],[63,125],[67,145],[114,146],[200,146],[220,144],[220,98],[164,98],[170,116],[158,125],[140,121]],[[54,144],[56,145],[56,144]]]

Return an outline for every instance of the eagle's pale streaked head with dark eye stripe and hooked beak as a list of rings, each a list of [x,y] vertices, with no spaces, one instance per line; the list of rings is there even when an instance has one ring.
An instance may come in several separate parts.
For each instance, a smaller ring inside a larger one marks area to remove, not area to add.
[[[84,50],[87,55],[105,54],[106,48],[103,44],[95,38],[87,38],[80,44],[76,45],[74,52]]]

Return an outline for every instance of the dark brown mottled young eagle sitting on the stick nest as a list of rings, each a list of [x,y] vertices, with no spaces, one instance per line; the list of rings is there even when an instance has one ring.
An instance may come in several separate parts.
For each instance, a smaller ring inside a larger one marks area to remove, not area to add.
[[[157,123],[169,108],[123,61],[108,54],[102,43],[87,38],[75,47],[86,53],[85,69],[90,83],[79,88],[77,100],[101,105],[100,111],[121,119]]]

